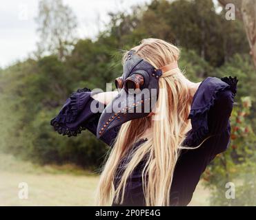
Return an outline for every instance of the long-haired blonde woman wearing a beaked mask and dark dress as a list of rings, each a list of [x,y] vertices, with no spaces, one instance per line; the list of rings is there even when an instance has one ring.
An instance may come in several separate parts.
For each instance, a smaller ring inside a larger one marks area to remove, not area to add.
[[[88,129],[111,146],[97,205],[186,206],[206,166],[228,147],[237,79],[193,83],[178,60],[174,45],[144,39],[124,54],[124,74],[116,80],[119,93],[80,89],[51,121],[63,135]],[[157,92],[135,97],[141,89]],[[128,105],[129,99],[134,103]],[[124,111],[113,111],[118,100]],[[151,102],[147,112],[146,100]],[[93,113],[95,102],[98,107],[104,103],[103,113]],[[142,113],[137,111],[141,106]]]

